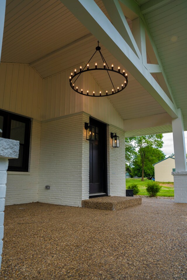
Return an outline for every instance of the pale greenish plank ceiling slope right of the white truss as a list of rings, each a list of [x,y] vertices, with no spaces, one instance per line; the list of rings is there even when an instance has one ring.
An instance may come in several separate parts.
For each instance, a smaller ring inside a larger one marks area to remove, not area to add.
[[[137,1],[142,4],[141,0]],[[144,16],[187,130],[187,1],[174,0]],[[176,39],[176,41],[174,41]]]

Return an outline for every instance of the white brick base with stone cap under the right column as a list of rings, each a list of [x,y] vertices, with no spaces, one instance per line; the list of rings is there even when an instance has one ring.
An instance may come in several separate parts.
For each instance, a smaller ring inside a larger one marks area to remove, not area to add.
[[[187,172],[186,174],[176,175],[176,172],[172,172],[174,176],[174,199],[177,203],[187,203]],[[180,172],[178,172],[180,173]],[[175,174],[175,175],[174,175]]]

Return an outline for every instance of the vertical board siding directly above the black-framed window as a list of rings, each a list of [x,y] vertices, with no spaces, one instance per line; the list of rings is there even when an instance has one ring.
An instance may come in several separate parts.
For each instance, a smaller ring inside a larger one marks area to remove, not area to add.
[[[28,64],[0,64],[0,108],[41,119],[43,79]]]

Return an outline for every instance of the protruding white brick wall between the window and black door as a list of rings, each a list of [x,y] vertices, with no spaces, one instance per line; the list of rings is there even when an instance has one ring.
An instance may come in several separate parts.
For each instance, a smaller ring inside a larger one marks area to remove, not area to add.
[[[89,143],[84,129],[87,120],[81,113],[41,124],[38,201],[81,206],[82,196],[88,197],[89,177],[85,170],[87,164],[89,169]],[[45,185],[50,185],[50,190]]]

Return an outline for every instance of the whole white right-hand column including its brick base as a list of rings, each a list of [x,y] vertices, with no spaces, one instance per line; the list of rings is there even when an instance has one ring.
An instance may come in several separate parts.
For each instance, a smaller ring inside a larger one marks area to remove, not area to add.
[[[187,165],[184,139],[183,117],[178,109],[179,118],[172,120],[173,142],[175,154],[174,198],[177,203],[187,203]]]

